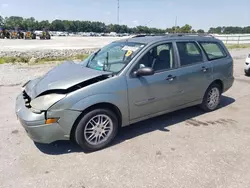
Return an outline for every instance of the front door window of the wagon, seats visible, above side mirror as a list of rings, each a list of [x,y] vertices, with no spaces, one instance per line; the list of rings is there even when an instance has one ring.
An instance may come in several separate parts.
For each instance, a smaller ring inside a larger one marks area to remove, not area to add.
[[[133,71],[142,67],[151,67],[155,72],[174,68],[172,43],[160,44],[150,49],[136,64]]]

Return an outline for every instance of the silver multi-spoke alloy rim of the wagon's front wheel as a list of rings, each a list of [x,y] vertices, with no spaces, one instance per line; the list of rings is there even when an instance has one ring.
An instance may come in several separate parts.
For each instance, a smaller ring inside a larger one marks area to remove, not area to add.
[[[91,145],[105,142],[113,131],[113,122],[107,115],[96,115],[91,118],[84,129],[84,138]]]

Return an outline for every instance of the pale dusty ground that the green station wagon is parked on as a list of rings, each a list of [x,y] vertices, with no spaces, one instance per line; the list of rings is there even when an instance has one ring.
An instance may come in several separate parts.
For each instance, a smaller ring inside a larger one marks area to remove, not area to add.
[[[250,50],[235,50],[235,83],[220,109],[192,107],[127,128],[112,146],[83,153],[69,142],[35,145],[15,116],[20,84],[52,66],[0,66],[0,187],[248,188]]]

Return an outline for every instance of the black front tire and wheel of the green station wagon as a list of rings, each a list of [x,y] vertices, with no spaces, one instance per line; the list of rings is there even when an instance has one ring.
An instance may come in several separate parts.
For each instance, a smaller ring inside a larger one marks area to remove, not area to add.
[[[110,123],[105,126],[106,128],[101,124],[98,128],[97,124],[93,126],[94,122],[97,123],[98,116],[102,116],[104,122],[106,120],[110,121]],[[89,123],[90,120],[92,120],[92,123]],[[116,115],[109,109],[95,109],[85,114],[79,121],[75,130],[75,141],[84,150],[97,151],[108,146],[117,135],[117,132],[118,119]],[[107,134],[106,137],[103,137],[104,133]],[[95,135],[102,135],[103,138]],[[94,144],[93,142],[97,141],[98,138],[100,139],[100,143]]]

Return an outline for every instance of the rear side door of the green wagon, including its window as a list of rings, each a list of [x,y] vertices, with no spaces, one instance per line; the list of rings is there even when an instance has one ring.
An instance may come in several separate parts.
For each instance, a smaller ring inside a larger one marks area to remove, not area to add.
[[[179,86],[181,96],[178,104],[200,101],[213,79],[213,67],[196,41],[178,41]]]

